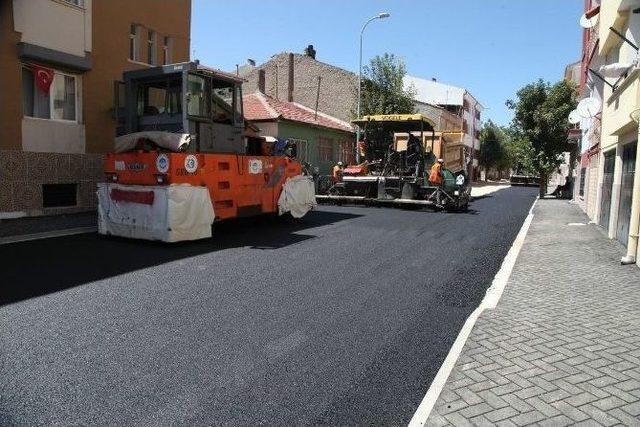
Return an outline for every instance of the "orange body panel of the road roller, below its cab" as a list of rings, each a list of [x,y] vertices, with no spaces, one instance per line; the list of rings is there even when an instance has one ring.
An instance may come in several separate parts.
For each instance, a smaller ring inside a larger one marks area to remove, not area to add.
[[[112,182],[207,187],[216,220],[277,212],[285,181],[300,174],[300,163],[284,156],[128,152],[105,159]]]

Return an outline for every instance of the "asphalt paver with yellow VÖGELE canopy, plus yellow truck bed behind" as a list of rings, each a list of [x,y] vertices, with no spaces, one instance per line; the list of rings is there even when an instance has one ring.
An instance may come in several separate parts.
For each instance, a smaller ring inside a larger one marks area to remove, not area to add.
[[[353,123],[364,131],[358,142],[364,161],[347,166],[318,201],[467,209],[471,187],[462,133],[436,132],[421,114],[365,116]],[[445,161],[443,183],[432,185],[429,171],[438,158]]]

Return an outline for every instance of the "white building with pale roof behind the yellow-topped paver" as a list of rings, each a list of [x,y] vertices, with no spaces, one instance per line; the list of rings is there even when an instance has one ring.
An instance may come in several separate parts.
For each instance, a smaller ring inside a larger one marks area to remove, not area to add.
[[[478,150],[480,149],[481,115],[484,107],[466,89],[440,83],[435,79],[427,80],[414,76],[405,76],[406,88],[413,87],[416,101],[437,105],[462,118],[462,142],[470,157],[469,176],[476,180],[479,176]]]

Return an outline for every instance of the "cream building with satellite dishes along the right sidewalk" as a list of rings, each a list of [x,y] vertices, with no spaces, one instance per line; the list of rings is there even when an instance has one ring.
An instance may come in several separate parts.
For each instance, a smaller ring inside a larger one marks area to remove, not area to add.
[[[601,103],[601,113],[595,115],[590,127],[592,142],[599,133],[599,150],[593,149],[594,144],[587,151],[587,155],[599,151],[596,206],[587,212],[593,214],[609,238],[627,247],[622,261],[637,262],[640,179],[636,179],[635,171],[640,163],[637,155],[640,0],[608,0],[601,4],[587,1],[585,16],[598,24],[588,30],[590,35],[586,37],[589,58],[585,60],[583,56],[583,63],[589,66],[583,70],[583,78],[588,96]],[[602,66],[595,70],[594,63],[598,61]],[[598,72],[602,79],[588,68]],[[593,76],[601,80],[601,86],[593,81]]]

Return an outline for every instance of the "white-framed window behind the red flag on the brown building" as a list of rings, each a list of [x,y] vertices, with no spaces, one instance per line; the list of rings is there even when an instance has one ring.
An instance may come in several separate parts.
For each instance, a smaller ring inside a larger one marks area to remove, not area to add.
[[[22,68],[23,112],[27,117],[78,121],[78,82],[72,74],[54,71],[49,93],[38,87],[29,66]]]

